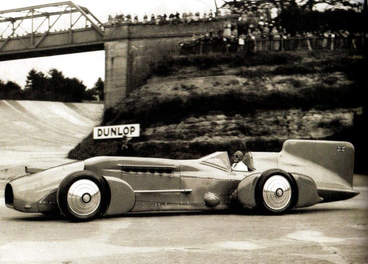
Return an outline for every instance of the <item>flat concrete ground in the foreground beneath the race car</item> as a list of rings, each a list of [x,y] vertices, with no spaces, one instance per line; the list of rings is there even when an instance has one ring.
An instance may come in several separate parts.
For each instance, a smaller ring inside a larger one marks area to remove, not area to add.
[[[70,223],[4,206],[0,263],[368,263],[367,176],[353,199],[282,216],[144,213]]]

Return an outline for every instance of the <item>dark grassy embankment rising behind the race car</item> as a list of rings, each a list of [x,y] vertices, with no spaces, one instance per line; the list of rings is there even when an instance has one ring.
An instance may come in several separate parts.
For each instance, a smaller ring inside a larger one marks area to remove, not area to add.
[[[364,56],[341,52],[165,58],[146,85],[104,113],[102,125],[140,123],[141,136],[131,142],[135,156],[147,157],[279,151],[287,138],[357,146],[367,120],[367,70]],[[89,135],[69,157],[115,155],[116,142]]]

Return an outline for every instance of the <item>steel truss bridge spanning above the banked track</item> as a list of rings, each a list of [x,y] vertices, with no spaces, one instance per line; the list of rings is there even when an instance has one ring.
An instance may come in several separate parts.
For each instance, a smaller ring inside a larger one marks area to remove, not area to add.
[[[71,1],[0,11],[0,61],[103,50],[102,23]]]

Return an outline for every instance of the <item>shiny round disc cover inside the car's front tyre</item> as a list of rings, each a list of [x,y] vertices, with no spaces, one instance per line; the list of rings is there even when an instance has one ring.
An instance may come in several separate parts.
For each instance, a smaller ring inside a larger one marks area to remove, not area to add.
[[[98,186],[91,180],[78,180],[68,190],[68,206],[77,215],[86,216],[97,210],[101,202]]]

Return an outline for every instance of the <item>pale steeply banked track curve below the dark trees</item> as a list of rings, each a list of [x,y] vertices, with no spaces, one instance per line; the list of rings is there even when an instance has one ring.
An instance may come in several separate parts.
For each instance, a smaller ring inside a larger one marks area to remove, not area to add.
[[[50,167],[99,124],[103,104],[0,100],[0,166]]]

